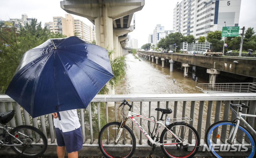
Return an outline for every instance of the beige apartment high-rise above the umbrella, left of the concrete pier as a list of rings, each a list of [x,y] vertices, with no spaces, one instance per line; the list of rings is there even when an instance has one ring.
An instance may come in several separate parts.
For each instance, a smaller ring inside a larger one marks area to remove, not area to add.
[[[74,19],[71,14],[64,17],[53,17],[53,22],[45,23],[45,26],[54,33],[62,33],[66,36],[78,36],[87,42],[95,40],[95,32],[92,26],[89,26],[79,19]]]

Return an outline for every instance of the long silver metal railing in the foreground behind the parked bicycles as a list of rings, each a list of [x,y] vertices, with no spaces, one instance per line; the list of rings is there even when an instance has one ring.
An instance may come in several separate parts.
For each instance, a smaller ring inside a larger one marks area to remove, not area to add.
[[[166,114],[170,118],[190,117],[192,126],[201,137],[204,144],[204,131],[219,120],[234,120],[235,115],[229,110],[230,102],[234,104],[245,103],[250,106],[249,114],[256,112],[255,93],[216,93],[216,94],[138,94],[138,95],[96,95],[87,109],[78,109],[83,142],[86,146],[97,146],[98,132],[108,122],[120,121],[118,107],[124,100],[132,102],[133,111],[144,116],[156,116],[159,120],[160,113],[155,108],[171,108],[173,113]],[[53,118],[51,114],[32,119],[18,103],[6,95],[0,95],[0,112],[15,110],[15,117],[9,122],[11,127],[26,124],[42,130],[48,138],[48,144],[57,145],[55,141]],[[225,115],[224,115],[225,114]],[[248,118],[249,124],[254,126],[254,118]],[[148,122],[140,120],[140,124],[147,129]],[[140,131],[133,128],[131,121],[127,125],[134,131],[137,145],[145,145],[146,138]],[[150,127],[152,131],[152,125]]]

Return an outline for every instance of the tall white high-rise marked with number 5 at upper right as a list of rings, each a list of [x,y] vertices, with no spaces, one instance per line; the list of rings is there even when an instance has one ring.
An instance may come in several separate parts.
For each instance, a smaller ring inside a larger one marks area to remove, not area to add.
[[[195,38],[225,26],[238,26],[241,0],[182,0],[176,4],[173,31]]]

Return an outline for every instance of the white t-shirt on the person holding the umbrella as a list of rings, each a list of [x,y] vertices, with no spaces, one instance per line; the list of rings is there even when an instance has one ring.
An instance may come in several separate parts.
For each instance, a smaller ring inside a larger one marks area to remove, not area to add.
[[[76,109],[58,112],[58,118],[53,118],[55,128],[62,132],[69,132],[78,129],[81,125]]]

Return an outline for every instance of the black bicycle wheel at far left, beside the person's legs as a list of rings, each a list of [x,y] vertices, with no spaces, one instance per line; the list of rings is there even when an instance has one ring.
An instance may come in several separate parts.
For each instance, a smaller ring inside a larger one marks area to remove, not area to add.
[[[18,154],[25,157],[38,157],[47,148],[47,139],[36,127],[21,125],[11,130],[9,142],[11,148]]]

